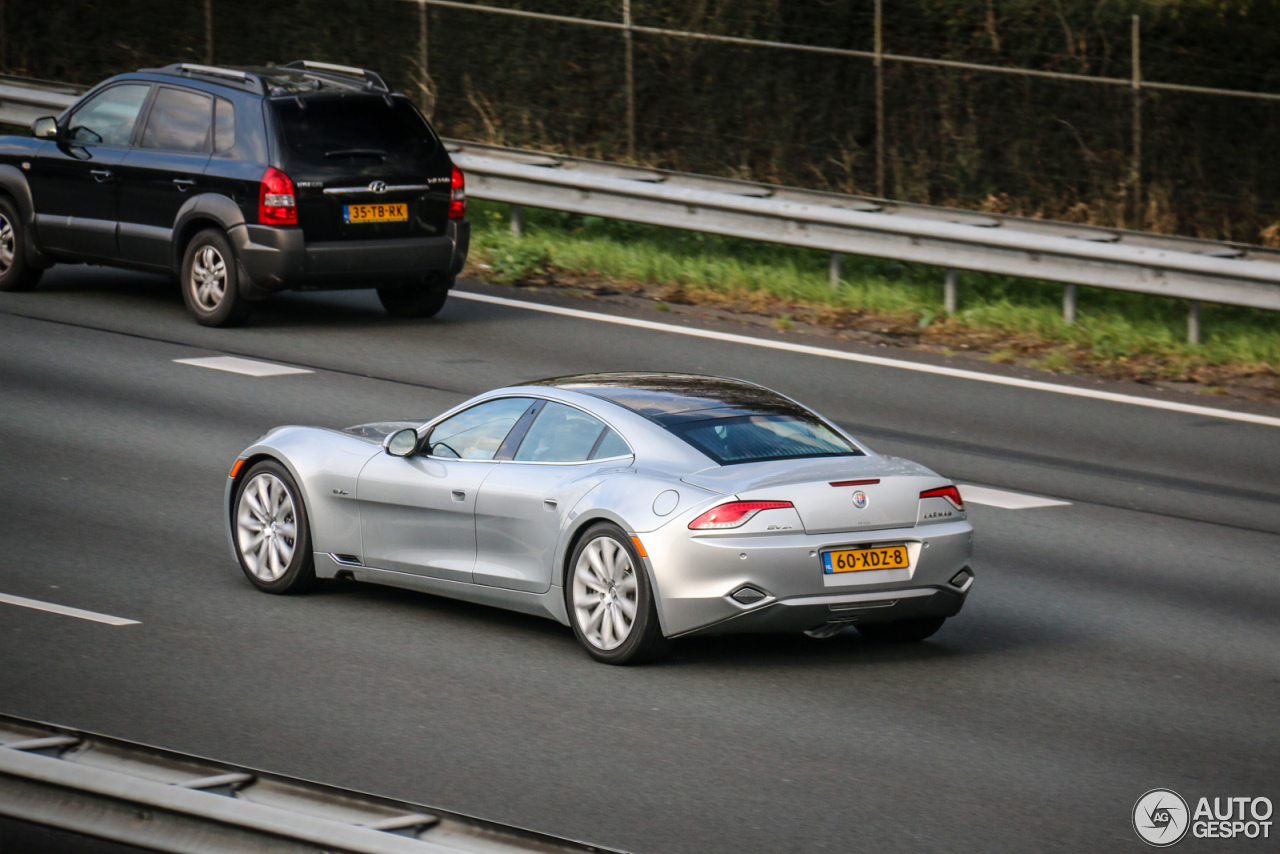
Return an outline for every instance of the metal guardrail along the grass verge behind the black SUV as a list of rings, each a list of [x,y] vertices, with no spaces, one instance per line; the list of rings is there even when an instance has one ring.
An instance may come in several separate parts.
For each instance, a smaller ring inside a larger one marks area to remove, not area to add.
[[[0,122],[46,113],[74,100],[74,87],[0,78]],[[26,111],[23,111],[26,110]],[[1078,225],[846,196],[746,181],[666,172],[556,154],[447,141],[475,198],[686,228],[832,252],[838,287],[844,254],[933,264],[955,270],[1066,284],[1064,314],[1075,315],[1076,286],[1190,301],[1189,337],[1199,338],[1199,303],[1280,310],[1280,250],[1147,232]]]

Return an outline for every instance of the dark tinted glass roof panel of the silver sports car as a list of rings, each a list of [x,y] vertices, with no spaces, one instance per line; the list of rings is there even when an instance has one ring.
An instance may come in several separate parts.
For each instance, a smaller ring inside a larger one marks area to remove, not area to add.
[[[581,392],[625,406],[663,426],[740,415],[813,415],[777,392],[719,376],[695,374],[580,374],[526,383]]]

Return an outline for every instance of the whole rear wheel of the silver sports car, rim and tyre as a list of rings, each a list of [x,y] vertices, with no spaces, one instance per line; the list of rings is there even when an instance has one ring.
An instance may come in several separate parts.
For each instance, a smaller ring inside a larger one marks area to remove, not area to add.
[[[636,665],[667,652],[649,576],[617,525],[599,522],[582,535],[564,593],[573,634],[591,658]]]

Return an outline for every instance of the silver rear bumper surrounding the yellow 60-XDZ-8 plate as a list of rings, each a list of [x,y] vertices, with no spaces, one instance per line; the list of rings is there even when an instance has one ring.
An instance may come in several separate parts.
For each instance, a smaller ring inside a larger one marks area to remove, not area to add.
[[[950,617],[973,586],[968,521],[846,534],[694,536],[684,525],[641,534],[663,634],[805,631],[829,622]],[[910,567],[826,574],[822,553],[859,544],[905,544]],[[744,604],[750,585],[764,598]]]

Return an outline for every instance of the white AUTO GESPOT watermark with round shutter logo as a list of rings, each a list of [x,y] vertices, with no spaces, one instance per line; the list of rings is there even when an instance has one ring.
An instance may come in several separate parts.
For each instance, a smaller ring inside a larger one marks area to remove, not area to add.
[[[1271,839],[1270,798],[1201,798],[1190,809],[1172,789],[1152,789],[1133,805],[1133,830],[1156,848],[1190,831],[1196,839]]]

